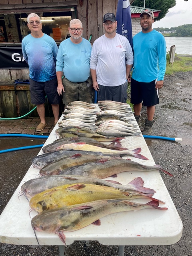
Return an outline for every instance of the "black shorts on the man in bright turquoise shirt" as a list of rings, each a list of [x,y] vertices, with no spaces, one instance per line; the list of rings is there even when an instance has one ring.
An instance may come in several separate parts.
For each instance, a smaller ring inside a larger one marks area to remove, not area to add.
[[[155,88],[156,80],[143,83],[131,78],[131,103],[139,104],[143,101],[146,107],[159,104],[158,90]]]

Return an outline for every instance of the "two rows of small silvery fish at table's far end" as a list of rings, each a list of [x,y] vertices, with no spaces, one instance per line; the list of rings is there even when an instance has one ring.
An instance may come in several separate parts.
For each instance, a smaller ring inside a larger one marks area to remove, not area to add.
[[[59,127],[83,126],[105,136],[140,136],[138,126],[134,123],[128,104],[111,101],[98,102],[97,105],[86,102],[71,102],[64,110],[64,118]]]

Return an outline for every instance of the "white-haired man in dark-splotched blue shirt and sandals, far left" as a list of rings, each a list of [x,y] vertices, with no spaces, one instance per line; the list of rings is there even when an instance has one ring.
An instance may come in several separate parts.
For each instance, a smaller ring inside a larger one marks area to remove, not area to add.
[[[53,38],[42,32],[42,22],[37,14],[29,14],[27,22],[31,34],[22,40],[22,52],[29,65],[31,102],[37,105],[41,122],[36,131],[40,132],[46,126],[45,96],[52,105],[54,124],[59,120],[60,99],[57,92],[55,67],[58,47]]]

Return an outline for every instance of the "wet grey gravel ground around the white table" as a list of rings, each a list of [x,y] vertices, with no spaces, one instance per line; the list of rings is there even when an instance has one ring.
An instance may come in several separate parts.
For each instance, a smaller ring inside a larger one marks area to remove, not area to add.
[[[164,87],[160,90],[160,104],[156,106],[155,123],[152,135],[182,138],[182,142],[146,139],[150,152],[156,164],[160,164],[174,175],[170,177],[161,172],[162,178],[170,196],[178,210],[183,223],[183,235],[180,241],[170,246],[126,246],[125,256],[190,256],[192,255],[192,72],[178,72],[166,76]],[[142,108],[142,122],[146,118],[146,108]],[[0,210],[4,209],[8,200],[17,188],[20,180],[30,166],[31,159],[39,149],[28,153],[28,159],[16,152],[4,153],[0,156],[2,172],[0,174]],[[18,163],[15,158],[22,158]],[[8,172],[16,175],[7,177]],[[7,177],[5,179],[5,177]],[[42,246],[44,256],[59,256],[56,246]],[[38,246],[15,246],[0,244],[2,256],[39,256]],[[85,242],[74,242],[68,247],[67,256],[117,256],[116,246],[103,246],[91,241],[90,246]]]

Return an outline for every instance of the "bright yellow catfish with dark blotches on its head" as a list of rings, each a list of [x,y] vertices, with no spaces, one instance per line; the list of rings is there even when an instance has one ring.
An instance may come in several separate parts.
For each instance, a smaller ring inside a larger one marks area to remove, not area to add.
[[[148,198],[150,200],[162,202],[144,194],[131,193],[117,188],[94,184],[74,183],[50,188],[36,194],[30,199],[29,206],[36,212],[42,212],[44,210],[96,200],[136,198]]]

